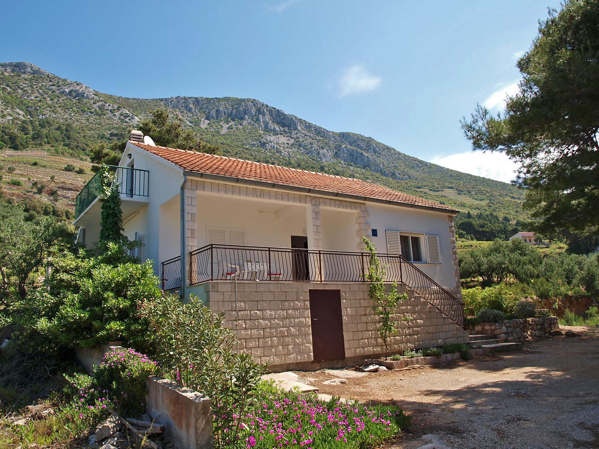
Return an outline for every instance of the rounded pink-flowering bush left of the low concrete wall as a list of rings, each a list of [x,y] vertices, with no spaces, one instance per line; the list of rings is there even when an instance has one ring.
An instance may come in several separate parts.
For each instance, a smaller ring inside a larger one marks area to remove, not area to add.
[[[93,374],[96,384],[107,392],[121,413],[137,415],[146,402],[146,379],[156,371],[156,362],[134,349],[114,349]]]

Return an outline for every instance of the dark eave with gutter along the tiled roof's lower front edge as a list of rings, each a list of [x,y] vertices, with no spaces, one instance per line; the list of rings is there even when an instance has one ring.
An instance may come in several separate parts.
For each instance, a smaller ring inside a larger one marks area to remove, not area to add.
[[[340,192],[329,192],[328,190],[319,190],[319,189],[308,189],[307,187],[298,187],[298,186],[289,186],[288,184],[280,184],[280,183],[270,183],[268,181],[257,181],[250,180],[247,178],[239,178],[232,177],[226,175],[215,175],[212,173],[204,173],[199,171],[189,171],[184,170],[184,175],[198,177],[198,178],[207,178],[216,181],[225,181],[228,183],[241,183],[247,184],[249,186],[259,186],[265,187],[268,189],[282,189],[282,190],[291,190],[292,192],[301,192],[301,193],[313,193],[314,195],[323,195],[323,196],[332,196],[334,198],[346,198],[346,199],[357,199],[359,201],[368,201],[374,202],[378,204],[391,204],[398,205],[401,207],[409,207],[413,209],[426,210],[432,212],[441,212],[449,215],[457,215],[459,213],[458,210],[454,209],[446,209],[442,207],[433,207],[433,206],[424,206],[419,204],[411,204],[402,201],[392,201],[388,199],[380,199],[380,198],[370,198],[370,196],[361,196],[361,195],[351,195],[350,193],[340,193]]]

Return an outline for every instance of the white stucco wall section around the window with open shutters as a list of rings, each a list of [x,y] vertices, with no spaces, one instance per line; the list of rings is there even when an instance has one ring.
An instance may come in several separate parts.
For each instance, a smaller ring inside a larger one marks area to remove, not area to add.
[[[447,214],[368,203],[367,210],[370,214],[368,219],[370,227],[376,229],[379,234],[377,237],[371,237],[371,239],[380,253],[387,252],[386,229],[438,235],[441,263],[415,263],[415,265],[441,286],[453,286],[455,278],[453,277],[453,260]],[[425,254],[424,247],[422,250]]]

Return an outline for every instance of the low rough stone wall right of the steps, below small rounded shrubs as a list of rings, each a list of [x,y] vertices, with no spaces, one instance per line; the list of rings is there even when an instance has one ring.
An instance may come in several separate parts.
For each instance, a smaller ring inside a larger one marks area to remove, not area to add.
[[[479,323],[468,326],[469,333],[494,335],[504,342],[546,337],[552,330],[558,329],[558,317],[516,318],[500,323]]]

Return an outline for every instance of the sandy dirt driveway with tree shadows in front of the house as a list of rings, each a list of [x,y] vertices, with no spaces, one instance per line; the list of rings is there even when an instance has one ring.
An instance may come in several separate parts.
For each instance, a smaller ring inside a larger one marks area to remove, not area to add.
[[[320,393],[397,404],[413,419],[388,449],[599,448],[599,328],[526,342],[522,351],[394,370]]]

